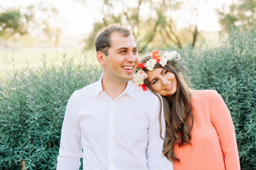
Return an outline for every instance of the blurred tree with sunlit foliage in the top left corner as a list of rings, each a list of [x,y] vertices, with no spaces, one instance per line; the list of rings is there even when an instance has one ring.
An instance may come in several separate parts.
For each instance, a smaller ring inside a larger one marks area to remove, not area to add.
[[[37,17],[40,13],[41,17]],[[50,27],[50,18],[58,15],[55,7],[40,3],[26,7],[0,9],[0,37],[6,41],[13,35],[44,35],[55,44],[59,42],[61,30]]]

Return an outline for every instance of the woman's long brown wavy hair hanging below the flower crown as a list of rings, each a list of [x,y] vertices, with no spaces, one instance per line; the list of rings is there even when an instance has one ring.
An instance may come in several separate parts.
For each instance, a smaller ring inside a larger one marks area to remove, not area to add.
[[[142,58],[142,63],[147,62],[151,58],[150,54],[145,55]],[[191,130],[194,124],[194,116],[192,114],[191,105],[191,89],[188,87],[189,79],[187,83],[184,80],[182,73],[178,72],[172,63],[167,62],[167,64],[162,67],[159,63],[155,65],[154,68],[164,68],[167,71],[172,72],[177,80],[177,91],[174,93],[171,100],[167,100],[166,97],[163,98],[163,112],[165,116],[165,139],[163,144],[163,155],[167,157],[170,161],[180,161],[174,153],[174,144],[178,146],[191,144]],[[144,70],[147,72],[147,70]],[[148,79],[144,80],[146,86],[154,92],[151,88]],[[161,102],[161,101],[160,101]],[[161,116],[160,118],[160,136],[161,136]]]

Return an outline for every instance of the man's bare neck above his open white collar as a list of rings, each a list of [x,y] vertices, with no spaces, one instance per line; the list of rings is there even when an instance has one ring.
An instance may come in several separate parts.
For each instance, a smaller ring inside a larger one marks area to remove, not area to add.
[[[102,90],[105,91],[113,100],[122,94],[126,85],[127,82],[115,82],[106,78],[104,79],[104,77],[102,79]]]

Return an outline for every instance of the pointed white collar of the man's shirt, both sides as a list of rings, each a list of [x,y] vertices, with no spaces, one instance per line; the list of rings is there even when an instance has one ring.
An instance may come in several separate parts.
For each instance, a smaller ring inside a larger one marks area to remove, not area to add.
[[[100,79],[97,82],[96,91],[95,91],[95,97],[98,95],[98,93],[103,92],[102,83],[101,83],[102,82],[102,78],[103,78],[103,73],[101,74]],[[127,82],[127,86],[124,89],[124,92],[122,94],[124,94],[124,93],[127,93],[131,97],[135,98],[135,85],[134,85],[134,81],[133,80],[130,80],[130,81]]]

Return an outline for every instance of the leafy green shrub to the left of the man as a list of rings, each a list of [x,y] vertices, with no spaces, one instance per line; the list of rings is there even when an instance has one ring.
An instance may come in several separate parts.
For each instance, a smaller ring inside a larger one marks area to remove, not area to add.
[[[0,169],[56,169],[70,95],[99,79],[101,68],[65,60],[62,66],[7,70],[0,85]]]

